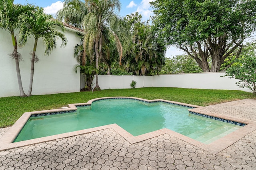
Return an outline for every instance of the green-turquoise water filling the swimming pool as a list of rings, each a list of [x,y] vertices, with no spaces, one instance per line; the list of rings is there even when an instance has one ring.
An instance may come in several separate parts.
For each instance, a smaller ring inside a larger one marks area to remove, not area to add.
[[[14,142],[116,123],[134,136],[168,128],[208,144],[241,128],[190,114],[188,109],[131,99],[101,100],[75,113],[31,117]]]

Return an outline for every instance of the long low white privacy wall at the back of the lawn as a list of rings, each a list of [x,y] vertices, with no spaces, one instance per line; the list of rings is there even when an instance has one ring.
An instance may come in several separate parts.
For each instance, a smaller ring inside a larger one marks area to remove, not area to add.
[[[141,87],[180,87],[188,89],[223,89],[223,90],[242,90],[236,85],[236,79],[221,77],[225,72],[215,73],[189,73],[189,74],[170,74],[154,76],[134,76],[134,75],[99,75],[98,81],[100,89],[129,89],[132,80],[136,81],[136,88]],[[81,78],[81,87],[84,87],[84,78]],[[95,79],[92,87],[95,87]]]

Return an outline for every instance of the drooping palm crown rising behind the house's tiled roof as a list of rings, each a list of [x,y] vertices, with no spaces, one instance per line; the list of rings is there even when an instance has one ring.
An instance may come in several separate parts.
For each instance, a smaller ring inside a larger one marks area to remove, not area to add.
[[[83,28],[82,21],[88,13],[88,9],[82,0],[64,0],[63,8],[60,9],[56,16],[57,19],[70,24],[77,28]]]

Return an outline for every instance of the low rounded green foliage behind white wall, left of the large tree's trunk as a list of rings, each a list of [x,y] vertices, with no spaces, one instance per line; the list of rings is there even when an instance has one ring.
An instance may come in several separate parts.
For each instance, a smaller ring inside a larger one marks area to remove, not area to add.
[[[176,73],[200,73],[202,69],[194,59],[188,55],[176,55],[173,58],[166,58],[165,65],[162,67],[160,74]]]

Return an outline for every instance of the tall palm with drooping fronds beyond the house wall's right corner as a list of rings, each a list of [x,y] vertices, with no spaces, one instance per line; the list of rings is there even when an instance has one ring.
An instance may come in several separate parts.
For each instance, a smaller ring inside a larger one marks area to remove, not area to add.
[[[108,29],[108,34],[114,35],[116,46],[122,58],[122,44],[120,42],[120,18],[114,13],[120,11],[121,3],[119,0],[86,0],[88,14],[84,17],[84,52],[92,59],[95,57],[96,69],[99,68],[99,61],[103,54],[105,41],[104,30]],[[125,30],[125,29],[123,29]],[[119,32],[117,32],[119,31]],[[98,73],[96,73],[96,89],[98,85]]]

